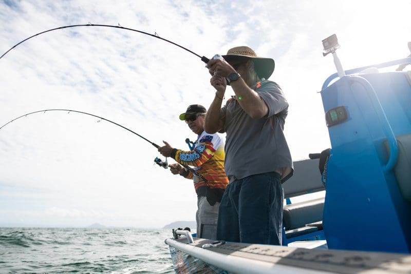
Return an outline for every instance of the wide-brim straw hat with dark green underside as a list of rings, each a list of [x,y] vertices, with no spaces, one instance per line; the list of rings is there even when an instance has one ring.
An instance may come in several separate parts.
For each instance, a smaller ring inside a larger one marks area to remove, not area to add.
[[[260,78],[268,79],[274,72],[275,62],[272,58],[258,57],[255,51],[247,46],[229,49],[227,55],[222,55],[222,57],[227,62],[241,58],[253,60],[254,70]]]

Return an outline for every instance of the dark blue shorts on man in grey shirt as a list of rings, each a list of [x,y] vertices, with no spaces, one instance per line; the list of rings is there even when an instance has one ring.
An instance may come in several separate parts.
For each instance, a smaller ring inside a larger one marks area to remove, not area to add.
[[[230,183],[219,208],[217,239],[281,245],[284,191],[280,178],[277,172],[266,172]]]

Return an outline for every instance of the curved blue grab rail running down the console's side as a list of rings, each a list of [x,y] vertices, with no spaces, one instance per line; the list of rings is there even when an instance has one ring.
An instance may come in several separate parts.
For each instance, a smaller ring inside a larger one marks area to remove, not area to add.
[[[358,84],[362,85],[365,88],[365,90],[368,92],[371,99],[373,99],[372,105],[377,111],[378,119],[382,123],[383,130],[384,130],[385,136],[387,137],[389,148],[390,148],[388,162],[383,167],[383,170],[388,171],[390,169],[393,169],[395,164],[397,163],[398,143],[395,138],[393,129],[389,125],[387,116],[385,115],[385,112],[381,106],[380,100],[378,99],[378,95],[376,91],[374,90],[374,88],[372,87],[372,85],[367,80],[365,80],[363,77],[357,76],[357,75],[351,75],[347,77],[349,77],[348,80],[351,82],[351,86],[353,85],[354,82],[357,82]]]

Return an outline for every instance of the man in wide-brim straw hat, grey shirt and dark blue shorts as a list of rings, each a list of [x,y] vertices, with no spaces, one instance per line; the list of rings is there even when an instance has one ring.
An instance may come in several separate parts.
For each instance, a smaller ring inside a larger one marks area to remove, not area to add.
[[[208,63],[216,93],[204,124],[207,132],[227,133],[230,183],[220,204],[217,239],[281,245],[281,184],[293,173],[283,133],[288,102],[281,88],[267,80],[273,59],[257,57],[245,46],[222,57]],[[235,96],[221,108],[227,85]]]

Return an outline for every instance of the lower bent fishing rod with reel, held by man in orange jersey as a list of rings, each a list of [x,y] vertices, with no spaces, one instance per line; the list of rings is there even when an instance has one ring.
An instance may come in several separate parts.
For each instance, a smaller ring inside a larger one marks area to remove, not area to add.
[[[103,117],[101,117],[101,116],[98,116],[98,115],[95,115],[95,114],[91,114],[91,113],[84,112],[84,111],[72,110],[72,109],[60,109],[60,108],[59,108],[59,109],[43,109],[43,110],[33,111],[33,112],[30,112],[30,113],[27,113],[27,114],[18,116],[17,118],[14,118],[13,120],[10,120],[9,122],[7,122],[7,123],[4,124],[3,126],[1,126],[1,127],[0,127],[0,130],[2,130],[2,128],[4,128],[5,126],[7,126],[7,125],[10,124],[10,123],[13,123],[14,121],[16,121],[16,120],[18,120],[18,119],[21,119],[21,118],[23,118],[23,117],[27,117],[28,115],[31,115],[31,114],[34,114],[34,113],[40,113],[40,112],[46,113],[47,111],[67,111],[67,114],[70,113],[70,112],[77,112],[77,113],[80,113],[80,114],[90,115],[90,116],[99,118],[100,120],[97,121],[97,122],[100,122],[101,120],[107,121],[107,122],[109,122],[109,123],[111,123],[111,124],[114,124],[114,125],[116,125],[116,126],[119,126],[119,127],[123,128],[123,129],[125,129],[125,130],[128,130],[129,132],[132,132],[133,134],[136,134],[137,136],[139,136],[139,137],[142,138],[143,140],[145,140],[145,141],[147,141],[148,143],[152,144],[155,148],[157,148],[157,149],[160,148],[160,146],[157,145],[156,143],[154,143],[154,142],[152,142],[152,141],[144,138],[143,136],[141,136],[141,135],[138,134],[137,132],[135,132],[135,131],[133,131],[133,130],[131,130],[131,129],[129,129],[129,128],[126,128],[125,126],[122,126],[122,125],[120,125],[120,124],[118,124],[118,123],[116,123],[116,122],[110,121],[110,120],[108,120],[108,119],[105,119],[105,118],[103,118]],[[159,166],[161,166],[161,167],[163,167],[163,168],[168,168],[167,158],[165,158],[165,161],[162,161],[161,159],[159,159],[158,157],[156,157],[156,159],[154,159],[154,162],[155,162],[157,165],[159,165]],[[184,168],[186,168],[186,169],[190,170],[191,172],[193,172],[194,174],[196,174],[199,178],[201,178],[201,179],[203,179],[204,181],[207,182],[207,179],[204,178],[200,173],[198,173],[198,171],[194,170],[193,168],[189,167],[188,165],[184,165],[184,164],[181,164],[181,165],[182,165]]]

